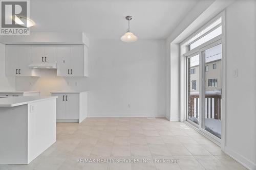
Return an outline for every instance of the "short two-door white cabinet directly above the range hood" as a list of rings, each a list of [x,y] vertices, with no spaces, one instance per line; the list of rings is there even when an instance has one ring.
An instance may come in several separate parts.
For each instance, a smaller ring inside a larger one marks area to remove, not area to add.
[[[32,45],[32,63],[57,63],[57,45]]]

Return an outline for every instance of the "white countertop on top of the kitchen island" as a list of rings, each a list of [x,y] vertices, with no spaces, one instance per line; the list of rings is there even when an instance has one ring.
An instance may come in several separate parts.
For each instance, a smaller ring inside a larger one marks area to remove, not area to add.
[[[0,98],[0,107],[14,107],[27,105],[34,102],[40,102],[49,99],[56,99],[57,96],[19,96],[10,98]]]

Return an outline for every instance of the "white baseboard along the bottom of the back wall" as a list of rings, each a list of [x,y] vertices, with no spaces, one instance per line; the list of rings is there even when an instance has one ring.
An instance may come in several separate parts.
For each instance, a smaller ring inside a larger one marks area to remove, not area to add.
[[[165,117],[165,114],[87,114],[87,117]]]

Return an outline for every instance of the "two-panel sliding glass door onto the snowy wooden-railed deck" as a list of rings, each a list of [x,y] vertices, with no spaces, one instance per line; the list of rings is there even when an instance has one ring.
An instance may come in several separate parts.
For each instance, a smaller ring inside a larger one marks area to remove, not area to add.
[[[221,139],[222,44],[214,42],[186,57],[187,121]]]

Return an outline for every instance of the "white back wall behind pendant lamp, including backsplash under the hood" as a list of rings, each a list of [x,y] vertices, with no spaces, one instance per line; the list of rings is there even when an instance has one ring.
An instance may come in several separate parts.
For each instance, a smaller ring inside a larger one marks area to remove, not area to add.
[[[41,78],[17,78],[16,89],[40,90],[44,95],[89,90],[89,116],[165,115],[164,40],[90,40],[88,78],[44,72]]]

